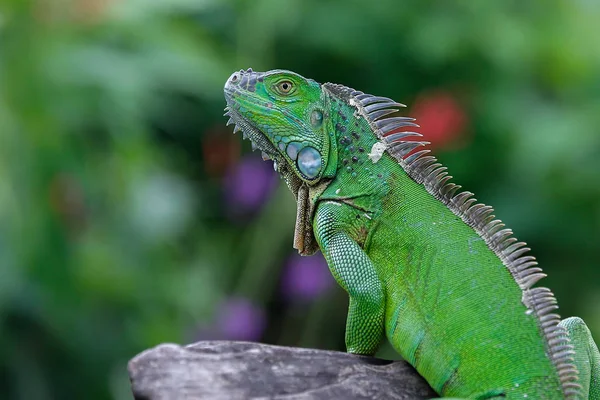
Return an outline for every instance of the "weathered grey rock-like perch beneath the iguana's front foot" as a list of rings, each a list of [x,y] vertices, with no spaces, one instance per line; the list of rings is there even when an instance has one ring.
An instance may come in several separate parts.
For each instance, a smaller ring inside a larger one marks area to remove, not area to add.
[[[429,399],[403,361],[259,343],[161,344],[129,362],[136,400]]]

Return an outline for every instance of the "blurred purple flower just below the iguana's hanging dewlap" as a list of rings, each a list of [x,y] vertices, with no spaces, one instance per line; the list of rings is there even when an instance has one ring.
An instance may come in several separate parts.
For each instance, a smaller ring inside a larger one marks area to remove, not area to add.
[[[290,256],[281,281],[283,294],[291,300],[310,300],[329,289],[334,282],[323,255]]]

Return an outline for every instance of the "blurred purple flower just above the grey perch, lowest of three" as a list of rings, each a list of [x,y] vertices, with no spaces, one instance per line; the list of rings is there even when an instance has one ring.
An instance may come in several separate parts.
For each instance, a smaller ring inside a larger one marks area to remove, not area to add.
[[[245,298],[230,298],[218,311],[217,329],[221,339],[257,341],[265,326],[265,312]]]

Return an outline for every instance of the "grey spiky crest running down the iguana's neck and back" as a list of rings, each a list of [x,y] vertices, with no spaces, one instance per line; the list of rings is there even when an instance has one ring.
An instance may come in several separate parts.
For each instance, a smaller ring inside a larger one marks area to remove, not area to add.
[[[446,205],[455,215],[473,228],[488,247],[502,261],[523,292],[522,301],[527,313],[533,313],[538,321],[548,352],[554,364],[567,399],[580,398],[581,386],[574,364],[574,347],[566,330],[559,326],[560,316],[553,311],[558,308],[554,294],[545,287],[532,286],[546,274],[537,266],[535,257],[525,255],[530,249],[526,243],[513,237],[512,230],[504,228],[502,221],[494,219],[493,208],[476,203],[473,193],[457,191],[461,186],[450,183],[452,179],[446,167],[429,150],[410,154],[428,142],[414,140],[422,135],[402,131],[405,127],[418,127],[414,118],[390,117],[403,104],[387,97],[373,96],[343,85],[326,83],[324,89],[356,107],[358,115],[369,122],[372,131],[386,145],[387,151],[398,161],[409,177],[423,185],[427,192]],[[411,140],[413,138],[413,140]]]

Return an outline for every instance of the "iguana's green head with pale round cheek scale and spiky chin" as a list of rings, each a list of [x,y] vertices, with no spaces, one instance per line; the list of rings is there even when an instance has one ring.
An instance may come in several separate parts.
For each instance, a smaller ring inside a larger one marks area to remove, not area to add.
[[[336,169],[335,138],[328,127],[321,85],[284,70],[233,73],[225,83],[226,115],[263,159],[272,159],[297,196]],[[291,184],[290,184],[291,182]]]

